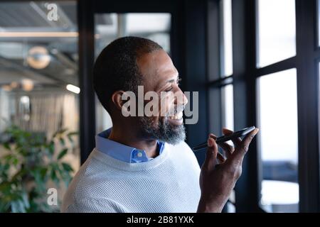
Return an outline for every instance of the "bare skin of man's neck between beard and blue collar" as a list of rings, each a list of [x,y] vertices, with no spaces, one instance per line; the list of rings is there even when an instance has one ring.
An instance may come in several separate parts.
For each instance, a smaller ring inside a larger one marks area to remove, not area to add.
[[[132,131],[130,131],[130,133],[127,132],[128,131],[113,127],[108,138],[129,147],[144,150],[148,157],[156,157],[159,155],[159,152],[156,149],[156,140],[142,140],[141,138],[138,138],[135,133],[132,133]]]

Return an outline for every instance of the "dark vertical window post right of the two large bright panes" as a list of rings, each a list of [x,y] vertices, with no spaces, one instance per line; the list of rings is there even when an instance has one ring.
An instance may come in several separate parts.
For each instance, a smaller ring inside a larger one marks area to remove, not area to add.
[[[296,0],[299,209],[320,211],[319,93],[316,0]],[[308,79],[306,79],[308,78]]]

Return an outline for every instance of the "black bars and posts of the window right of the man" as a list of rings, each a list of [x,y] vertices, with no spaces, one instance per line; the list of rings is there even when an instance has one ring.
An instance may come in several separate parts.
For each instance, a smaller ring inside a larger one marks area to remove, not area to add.
[[[296,0],[297,55],[265,67],[257,67],[257,1],[233,0],[233,74],[220,77],[219,1],[208,1],[207,89],[233,84],[235,129],[257,125],[257,78],[297,69],[299,211],[320,211],[319,187],[319,61],[318,7],[316,0]],[[255,45],[252,45],[255,43]],[[215,77],[214,80],[210,78]],[[215,92],[218,94],[219,92]],[[318,94],[318,95],[314,95]],[[220,97],[208,97],[209,109],[220,106]],[[210,128],[221,128],[221,111],[209,120]],[[279,128],[279,133],[282,129]],[[235,187],[237,212],[265,212],[260,207],[262,165],[257,139],[243,162],[242,177]]]

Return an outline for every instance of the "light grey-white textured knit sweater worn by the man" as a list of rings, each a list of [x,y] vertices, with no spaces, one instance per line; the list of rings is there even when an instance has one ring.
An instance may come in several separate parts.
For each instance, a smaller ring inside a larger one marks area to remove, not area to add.
[[[70,183],[62,212],[196,212],[200,167],[189,146],[165,144],[148,162],[127,163],[94,149]]]

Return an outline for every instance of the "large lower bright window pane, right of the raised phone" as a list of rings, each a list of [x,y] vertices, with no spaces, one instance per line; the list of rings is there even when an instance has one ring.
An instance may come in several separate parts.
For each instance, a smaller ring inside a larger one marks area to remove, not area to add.
[[[261,205],[269,212],[298,212],[297,70],[260,77],[257,89]]]

